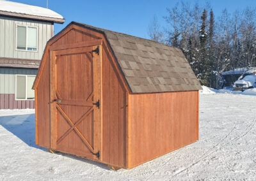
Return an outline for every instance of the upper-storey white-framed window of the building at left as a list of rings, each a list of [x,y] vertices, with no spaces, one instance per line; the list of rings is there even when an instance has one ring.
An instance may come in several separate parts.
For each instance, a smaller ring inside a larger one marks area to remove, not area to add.
[[[37,51],[37,27],[17,25],[17,50]]]

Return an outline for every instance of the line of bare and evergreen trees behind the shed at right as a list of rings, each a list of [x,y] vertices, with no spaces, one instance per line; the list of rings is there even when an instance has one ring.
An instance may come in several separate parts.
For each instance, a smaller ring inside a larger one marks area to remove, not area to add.
[[[157,17],[148,26],[150,39],[182,50],[202,85],[220,88],[221,73],[256,66],[256,11],[248,7],[219,17],[209,4],[167,8],[166,27]]]

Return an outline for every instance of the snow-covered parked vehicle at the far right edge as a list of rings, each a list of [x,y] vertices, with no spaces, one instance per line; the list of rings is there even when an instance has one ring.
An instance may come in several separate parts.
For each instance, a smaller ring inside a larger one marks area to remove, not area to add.
[[[246,75],[243,79],[237,80],[234,85],[234,91],[244,91],[256,87],[256,75]]]

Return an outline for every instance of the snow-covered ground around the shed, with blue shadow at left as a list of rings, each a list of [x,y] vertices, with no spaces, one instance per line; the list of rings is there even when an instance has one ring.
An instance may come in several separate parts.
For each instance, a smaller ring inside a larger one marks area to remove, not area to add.
[[[200,94],[200,140],[132,170],[35,145],[33,110],[0,111],[0,180],[255,180],[256,96]]]

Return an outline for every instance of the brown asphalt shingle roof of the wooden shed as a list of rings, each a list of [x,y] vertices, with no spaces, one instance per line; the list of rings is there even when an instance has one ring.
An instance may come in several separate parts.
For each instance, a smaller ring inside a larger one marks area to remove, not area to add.
[[[202,89],[179,48],[86,24],[72,24],[106,36],[132,93]]]

